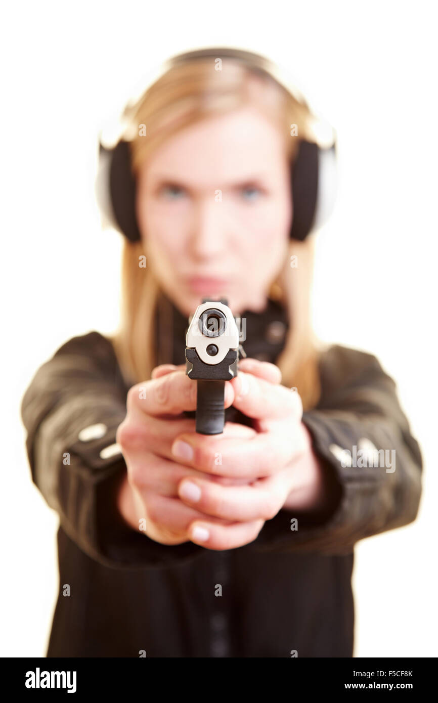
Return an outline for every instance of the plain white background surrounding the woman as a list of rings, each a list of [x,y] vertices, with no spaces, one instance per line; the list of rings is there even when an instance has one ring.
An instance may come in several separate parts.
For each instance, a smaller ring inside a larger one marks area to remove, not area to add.
[[[425,457],[408,527],[356,546],[356,657],[437,656],[437,51],[434,4],[120,1],[10,4],[1,28],[3,656],[44,656],[57,516],[20,423],[38,366],[115,330],[121,238],[94,202],[97,135],[143,75],[228,45],[278,61],[337,129],[340,192],[318,236],[318,335],[376,354]]]

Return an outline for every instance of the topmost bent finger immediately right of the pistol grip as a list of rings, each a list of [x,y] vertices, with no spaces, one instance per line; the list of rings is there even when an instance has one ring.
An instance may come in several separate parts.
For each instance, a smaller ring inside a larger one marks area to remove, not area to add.
[[[230,383],[235,397],[233,406],[244,415],[258,420],[302,416],[302,401],[297,392],[273,385],[251,373],[240,372]]]

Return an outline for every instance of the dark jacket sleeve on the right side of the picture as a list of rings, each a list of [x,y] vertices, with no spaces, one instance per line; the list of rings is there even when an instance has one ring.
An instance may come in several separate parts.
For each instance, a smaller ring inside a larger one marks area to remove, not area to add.
[[[302,421],[337,499],[324,516],[280,510],[253,543],[258,550],[342,555],[416,519],[423,460],[394,380],[372,354],[339,345],[320,370],[321,399]]]

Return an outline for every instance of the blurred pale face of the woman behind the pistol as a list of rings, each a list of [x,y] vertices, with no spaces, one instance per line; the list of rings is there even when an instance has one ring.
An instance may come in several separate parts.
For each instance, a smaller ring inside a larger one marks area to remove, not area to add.
[[[141,168],[136,213],[147,266],[183,314],[202,297],[264,309],[292,221],[283,135],[251,106],[187,127]]]

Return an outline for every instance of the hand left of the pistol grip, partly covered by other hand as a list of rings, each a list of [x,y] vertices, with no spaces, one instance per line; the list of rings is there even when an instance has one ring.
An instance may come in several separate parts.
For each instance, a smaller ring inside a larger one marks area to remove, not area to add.
[[[196,408],[196,383],[183,368],[159,366],[153,370],[150,381],[129,389],[127,416],[116,436],[127,464],[127,476],[118,493],[118,509],[133,529],[141,526],[144,534],[162,544],[202,541],[202,531],[197,532],[193,523],[203,522],[208,516],[179,498],[178,486],[183,478],[202,479],[204,484],[248,483],[245,477],[220,477],[214,472],[207,477],[172,456],[176,437],[195,435],[195,420],[181,417],[184,410]],[[233,400],[233,387],[226,382],[225,407],[233,404]],[[243,442],[254,433],[250,427],[226,423],[222,437]],[[208,520],[209,546],[216,549],[230,549],[253,541],[264,524],[259,518],[244,522],[221,517],[208,517]]]

